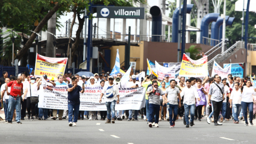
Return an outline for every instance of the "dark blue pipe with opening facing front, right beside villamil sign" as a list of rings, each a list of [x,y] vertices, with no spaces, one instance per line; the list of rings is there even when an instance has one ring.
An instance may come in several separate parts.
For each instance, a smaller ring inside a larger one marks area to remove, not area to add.
[[[153,35],[162,35],[162,13],[158,6],[152,6],[149,10],[152,15],[152,42],[160,42],[161,36]]]

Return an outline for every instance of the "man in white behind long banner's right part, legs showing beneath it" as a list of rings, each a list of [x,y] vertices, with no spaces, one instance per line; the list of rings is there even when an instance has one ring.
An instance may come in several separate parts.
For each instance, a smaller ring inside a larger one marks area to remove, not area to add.
[[[131,88],[137,88],[137,87],[141,87],[141,84],[140,82],[136,81],[136,76],[135,75],[132,75],[132,82],[128,82],[126,84],[127,87],[131,87]],[[127,121],[131,121],[135,119],[135,121],[139,121],[138,120],[138,113],[139,113],[139,110],[134,110],[134,117],[132,117],[132,109],[129,110],[129,118]]]

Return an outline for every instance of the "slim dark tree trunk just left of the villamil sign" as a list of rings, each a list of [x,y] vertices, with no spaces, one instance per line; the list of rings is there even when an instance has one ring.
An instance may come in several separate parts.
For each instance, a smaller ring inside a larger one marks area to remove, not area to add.
[[[79,45],[79,41],[80,41],[80,34],[81,34],[81,31],[83,30],[83,27],[84,27],[84,18],[80,18],[80,13],[77,13],[77,19],[79,21],[78,23],[78,29],[76,31],[76,40],[75,40],[75,43],[72,44],[72,55],[71,55],[71,62],[74,62],[73,58],[74,58],[74,55],[75,55],[75,52],[77,50],[77,47]]]

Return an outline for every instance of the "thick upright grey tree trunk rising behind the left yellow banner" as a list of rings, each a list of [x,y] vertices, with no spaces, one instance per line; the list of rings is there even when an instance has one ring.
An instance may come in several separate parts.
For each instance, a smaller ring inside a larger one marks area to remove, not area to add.
[[[47,31],[56,35],[56,13],[52,15],[52,18],[48,20]],[[52,34],[47,33],[47,42],[46,42],[46,57],[55,58],[56,54],[54,54],[54,36]]]

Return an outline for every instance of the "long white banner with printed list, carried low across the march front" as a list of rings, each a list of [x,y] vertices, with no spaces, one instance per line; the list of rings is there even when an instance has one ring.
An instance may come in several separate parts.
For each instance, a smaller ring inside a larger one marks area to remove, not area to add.
[[[105,105],[106,97],[102,97],[99,103],[100,94],[103,87],[85,87],[85,92],[80,93],[79,110],[107,110]],[[67,86],[50,87],[41,85],[39,93],[38,108],[48,109],[68,109]],[[121,88],[119,89],[119,104],[115,110],[134,109],[138,110],[145,107],[145,87]]]

